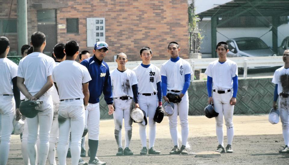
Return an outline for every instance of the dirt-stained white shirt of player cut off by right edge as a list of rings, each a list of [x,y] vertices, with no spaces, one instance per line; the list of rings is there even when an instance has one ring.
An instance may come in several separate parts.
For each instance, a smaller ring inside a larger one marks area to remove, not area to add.
[[[272,83],[278,84],[278,95],[280,93],[289,94],[289,68],[284,66],[277,69],[274,73]]]

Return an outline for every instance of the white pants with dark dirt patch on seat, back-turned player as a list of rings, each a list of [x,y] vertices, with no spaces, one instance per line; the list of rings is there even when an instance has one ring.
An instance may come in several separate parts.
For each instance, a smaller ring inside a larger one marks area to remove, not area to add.
[[[59,140],[57,155],[60,165],[66,165],[67,142],[71,130],[71,164],[77,165],[81,150],[81,137],[85,124],[83,99],[61,101],[58,111]]]

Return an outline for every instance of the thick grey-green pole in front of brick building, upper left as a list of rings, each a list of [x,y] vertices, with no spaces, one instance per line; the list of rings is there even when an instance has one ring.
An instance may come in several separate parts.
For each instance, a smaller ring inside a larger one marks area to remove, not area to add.
[[[27,0],[17,0],[17,39],[18,55],[21,53],[22,45],[28,43],[27,40]]]

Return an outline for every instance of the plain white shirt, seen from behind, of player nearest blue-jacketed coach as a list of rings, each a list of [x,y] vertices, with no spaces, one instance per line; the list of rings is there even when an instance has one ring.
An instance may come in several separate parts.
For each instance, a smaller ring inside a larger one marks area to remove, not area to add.
[[[82,83],[91,80],[87,68],[76,61],[65,60],[55,66],[52,79],[56,83],[60,100],[84,98]]]

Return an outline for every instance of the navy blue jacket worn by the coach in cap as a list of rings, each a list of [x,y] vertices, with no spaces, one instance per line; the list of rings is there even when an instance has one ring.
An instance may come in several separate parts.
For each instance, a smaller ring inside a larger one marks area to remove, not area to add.
[[[80,64],[85,66],[92,80],[89,81],[89,103],[95,104],[99,102],[99,97],[103,91],[104,100],[107,104],[113,103],[112,87],[109,68],[106,62],[102,61],[101,65],[98,65],[95,55],[91,58],[83,60]]]

